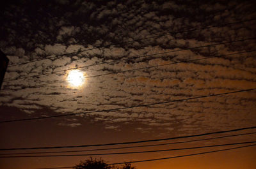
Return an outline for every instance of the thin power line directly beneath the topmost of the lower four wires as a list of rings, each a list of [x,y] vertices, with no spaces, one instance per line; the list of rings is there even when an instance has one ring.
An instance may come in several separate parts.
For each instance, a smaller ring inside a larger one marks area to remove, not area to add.
[[[52,153],[66,153],[66,152],[106,151],[106,150],[116,150],[116,149],[131,149],[131,148],[139,148],[139,147],[154,147],[154,146],[159,146],[159,145],[171,145],[171,144],[177,144],[177,143],[199,142],[199,141],[204,141],[204,140],[213,140],[213,139],[218,139],[218,138],[227,138],[227,137],[232,137],[232,136],[242,136],[242,135],[252,135],[252,134],[256,134],[256,132],[241,133],[241,134],[237,134],[237,135],[218,136],[218,137],[213,137],[213,138],[204,138],[204,139],[197,139],[197,140],[188,140],[188,141],[183,141],[183,142],[159,143],[159,144],[152,144],[152,145],[138,145],[138,146],[129,146],[129,147],[107,148],[107,149],[89,149],[89,150],[83,150],[83,151],[48,151],[48,152],[6,153],[6,154],[0,154],[0,156],[22,155],[22,154],[52,154]]]

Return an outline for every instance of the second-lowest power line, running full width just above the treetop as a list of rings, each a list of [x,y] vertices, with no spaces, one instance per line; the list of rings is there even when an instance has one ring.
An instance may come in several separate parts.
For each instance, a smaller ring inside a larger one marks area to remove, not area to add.
[[[218,145],[205,145],[198,147],[186,147],[179,149],[163,149],[163,150],[154,150],[154,151],[133,151],[133,152],[110,152],[110,153],[97,153],[97,154],[58,154],[58,155],[33,155],[33,156],[0,156],[0,158],[49,158],[49,157],[72,157],[72,156],[109,156],[109,155],[118,155],[118,154],[139,154],[139,153],[149,153],[149,152],[166,152],[166,151],[182,151],[182,150],[190,150],[190,149],[203,149],[209,147],[222,147],[228,145],[240,145],[246,143],[256,143],[256,141],[252,142],[239,142],[239,143],[225,143]]]

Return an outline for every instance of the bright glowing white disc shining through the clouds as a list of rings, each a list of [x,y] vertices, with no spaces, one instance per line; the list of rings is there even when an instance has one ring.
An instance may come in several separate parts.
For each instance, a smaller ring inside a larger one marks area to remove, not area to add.
[[[68,73],[68,82],[72,84],[74,87],[78,87],[83,84],[84,82],[84,75],[83,72],[79,70],[72,70]]]

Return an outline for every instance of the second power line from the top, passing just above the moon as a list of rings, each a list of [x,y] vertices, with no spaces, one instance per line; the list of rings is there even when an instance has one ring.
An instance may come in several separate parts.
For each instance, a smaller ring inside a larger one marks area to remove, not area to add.
[[[252,40],[252,39],[255,39],[255,38],[248,38],[248,39],[237,40],[237,41],[246,41],[246,40]],[[20,77],[20,78],[14,78],[14,79],[10,79],[10,80],[4,80],[3,82],[12,82],[12,81],[19,80],[19,79],[24,79],[24,78],[31,78],[31,77],[40,77],[40,76],[44,76],[44,75],[51,75],[51,74],[55,74],[55,73],[60,73],[62,71],[78,70],[78,69],[81,69],[81,68],[89,68],[91,66],[99,66],[101,64],[110,64],[110,63],[113,63],[113,62],[129,61],[129,60],[132,60],[132,59],[139,59],[139,58],[142,58],[142,57],[148,57],[148,56],[153,56],[153,55],[161,55],[161,54],[170,54],[172,52],[180,52],[182,50],[191,50],[191,49],[195,49],[195,48],[211,47],[211,46],[215,46],[215,45],[223,45],[223,44],[226,44],[226,43],[233,43],[233,42],[237,42],[237,41],[228,41],[228,42],[223,42],[223,43],[215,43],[215,44],[212,44],[212,45],[205,45],[205,46],[200,46],[200,47],[172,50],[172,51],[168,51],[168,52],[160,52],[160,53],[157,53],[157,54],[138,55],[138,56],[134,56],[134,57],[127,58],[127,59],[120,59],[120,60],[109,61],[109,62],[100,62],[100,63],[96,63],[96,64],[90,64],[90,65],[87,65],[87,66],[79,66],[77,68],[68,68],[66,70],[52,71],[52,72],[48,72],[48,73],[39,73],[37,75],[31,75],[31,76],[27,76],[27,77]],[[253,51],[255,51],[255,50],[253,50]],[[161,57],[156,57],[156,58],[161,58]]]

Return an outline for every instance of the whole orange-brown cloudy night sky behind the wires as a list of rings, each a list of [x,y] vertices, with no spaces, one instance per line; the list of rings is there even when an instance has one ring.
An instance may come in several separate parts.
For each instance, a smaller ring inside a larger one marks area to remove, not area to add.
[[[77,115],[1,122],[0,149],[131,142],[255,126],[255,90],[170,102],[256,88],[253,6],[253,1],[142,0],[4,4],[0,48],[10,62],[0,91],[0,121]],[[72,69],[83,73],[79,87],[67,80]],[[255,138],[251,134],[123,151],[250,142]],[[221,147],[93,158],[118,163],[216,149]],[[53,151],[70,150],[86,149]],[[38,150],[0,154],[13,152]],[[134,166],[250,169],[256,166],[255,158],[256,148],[246,147]],[[0,167],[74,166],[84,159],[88,156],[0,155]]]

